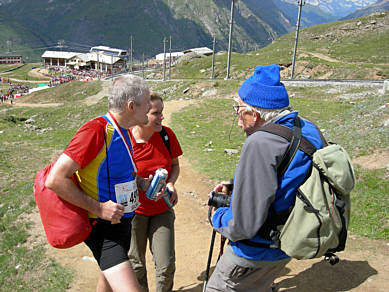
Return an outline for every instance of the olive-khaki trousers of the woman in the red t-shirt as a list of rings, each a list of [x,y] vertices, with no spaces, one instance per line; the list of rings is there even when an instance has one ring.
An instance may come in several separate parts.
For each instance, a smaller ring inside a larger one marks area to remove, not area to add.
[[[156,292],[172,291],[175,265],[173,209],[158,215],[136,214],[132,220],[132,233],[129,258],[138,282],[143,291],[148,292],[146,269],[146,246],[155,265]]]

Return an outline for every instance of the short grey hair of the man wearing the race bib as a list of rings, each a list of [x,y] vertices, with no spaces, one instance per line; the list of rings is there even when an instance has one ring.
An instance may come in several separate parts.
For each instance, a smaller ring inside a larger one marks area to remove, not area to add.
[[[143,98],[150,95],[147,83],[135,75],[124,75],[116,78],[108,96],[108,110],[121,113],[130,101],[140,104]]]

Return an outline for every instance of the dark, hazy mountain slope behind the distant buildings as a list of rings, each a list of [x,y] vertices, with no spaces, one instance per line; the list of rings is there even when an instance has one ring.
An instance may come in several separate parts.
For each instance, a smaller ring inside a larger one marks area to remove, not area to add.
[[[0,0],[0,52],[56,46],[64,50],[87,50],[94,45],[128,49],[134,38],[134,55],[152,56],[163,51],[163,39],[172,36],[172,49],[228,47],[231,2],[225,0]],[[273,1],[236,1],[233,48],[245,52],[265,46],[294,24]],[[13,23],[21,29],[14,30]],[[22,29],[24,28],[24,29]],[[5,34],[4,31],[9,33]],[[30,34],[29,38],[25,34]],[[23,35],[23,37],[21,37]],[[63,42],[62,42],[63,43]],[[42,50],[27,55],[40,56]]]

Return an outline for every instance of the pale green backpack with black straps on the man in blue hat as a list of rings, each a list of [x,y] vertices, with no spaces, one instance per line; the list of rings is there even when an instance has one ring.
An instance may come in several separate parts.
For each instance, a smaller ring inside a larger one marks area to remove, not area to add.
[[[273,223],[268,225],[273,226],[267,230],[271,231],[270,238],[275,244],[267,247],[280,248],[299,260],[325,256],[331,264],[336,264],[339,259],[334,253],[344,250],[346,244],[350,192],[355,184],[349,155],[340,145],[327,144],[319,129],[324,146],[316,149],[301,136],[299,117],[293,131],[277,124],[265,125],[261,130],[290,141],[278,168],[279,175],[287,169],[297,148],[312,158],[311,171],[297,190],[294,206],[288,210],[287,216],[275,214],[275,217],[280,215],[278,219],[270,220]]]

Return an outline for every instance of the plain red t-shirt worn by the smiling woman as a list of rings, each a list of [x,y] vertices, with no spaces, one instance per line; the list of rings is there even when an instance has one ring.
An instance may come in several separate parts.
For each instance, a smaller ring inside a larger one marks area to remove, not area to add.
[[[170,128],[166,126],[164,128],[169,135],[171,154],[163,143],[159,132],[155,132],[146,143],[137,143],[131,135],[135,163],[140,177],[149,177],[150,174],[154,175],[158,168],[165,168],[169,173],[169,179],[172,159],[182,155],[182,149],[176,135]],[[135,210],[136,214],[157,215],[168,209],[164,200],[161,199],[158,202],[150,200],[140,190],[139,202],[141,205]]]

